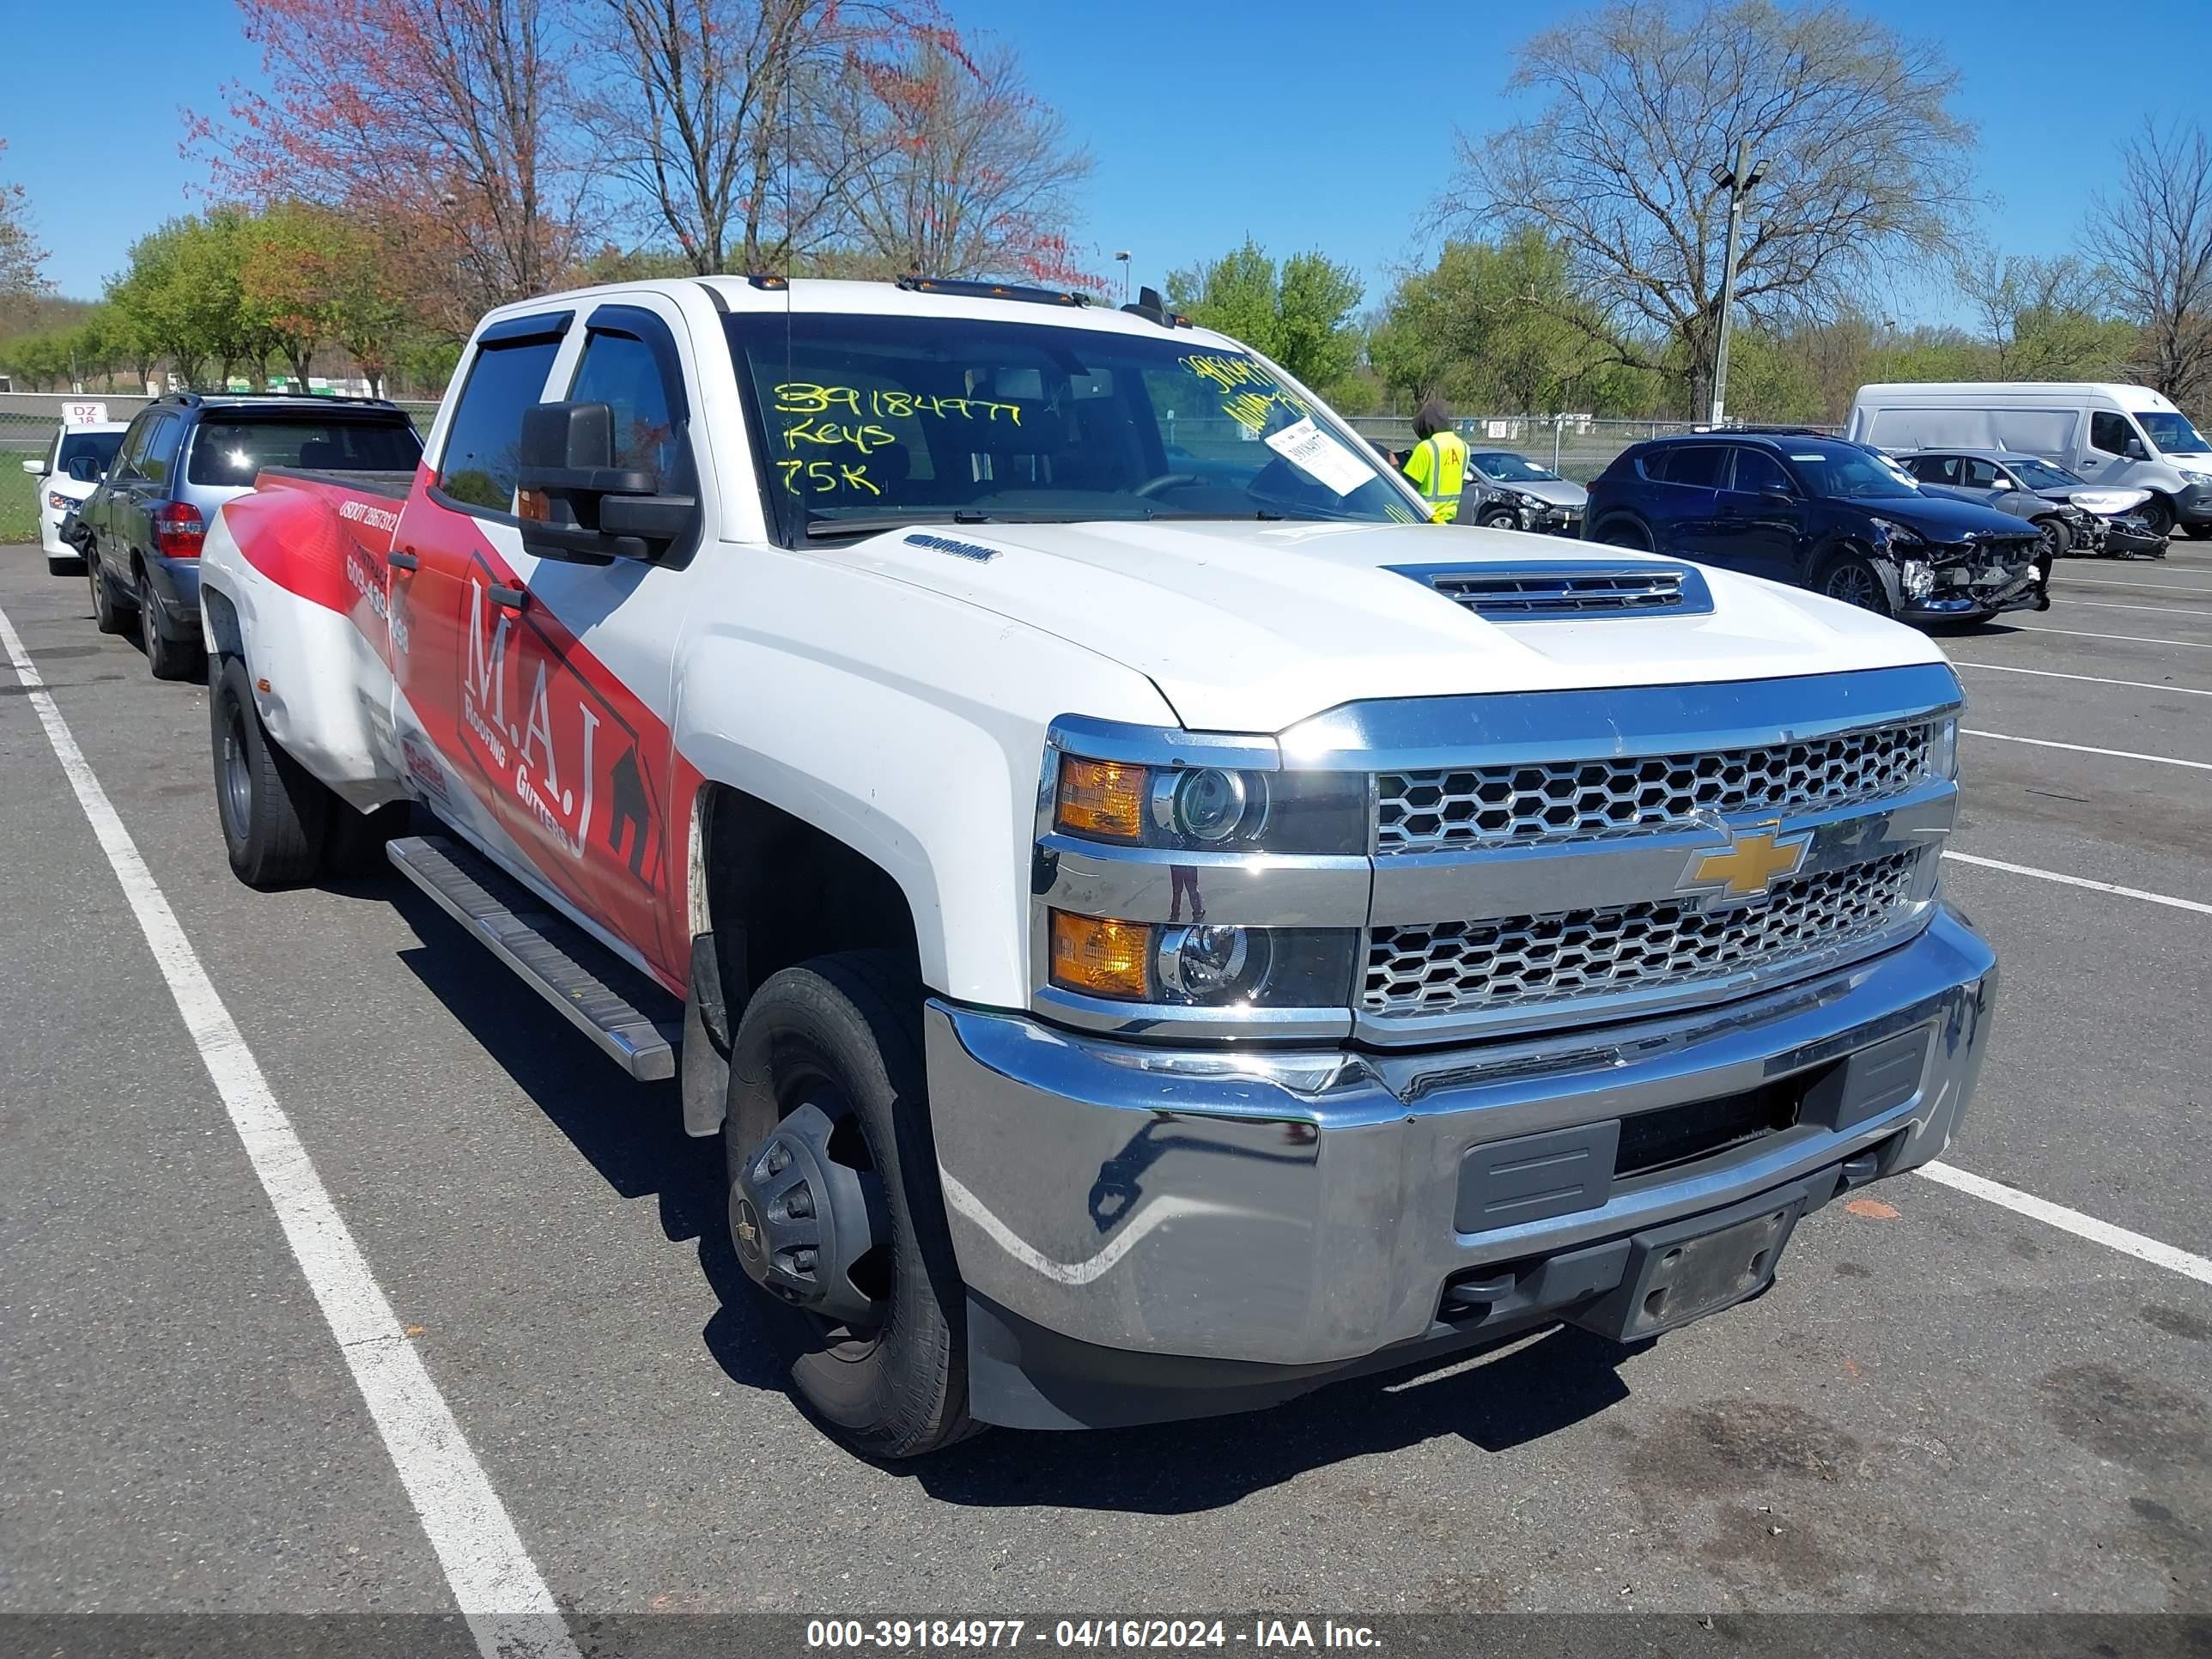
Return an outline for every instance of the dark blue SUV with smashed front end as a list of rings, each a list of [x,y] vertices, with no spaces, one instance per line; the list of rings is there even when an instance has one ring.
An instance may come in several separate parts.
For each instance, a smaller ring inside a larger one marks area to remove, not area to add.
[[[1927,495],[1893,460],[1840,438],[1712,431],[1632,445],[1590,484],[1582,533],[1905,622],[2048,604],[2033,524]]]

